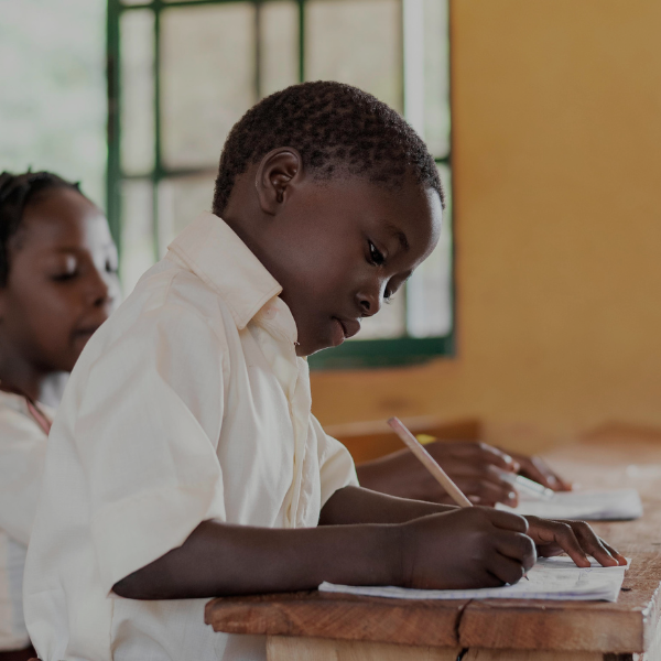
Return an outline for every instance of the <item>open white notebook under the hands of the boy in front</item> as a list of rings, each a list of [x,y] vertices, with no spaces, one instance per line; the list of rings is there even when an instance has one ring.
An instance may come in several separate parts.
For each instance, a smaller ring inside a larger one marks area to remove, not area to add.
[[[630,561],[629,561],[630,564]],[[392,586],[349,586],[322,583],[321,592],[348,593],[394,599],[570,599],[617,602],[626,567],[577,567],[566,556],[541,557],[528,572],[529,581],[480,589],[412,589]]]

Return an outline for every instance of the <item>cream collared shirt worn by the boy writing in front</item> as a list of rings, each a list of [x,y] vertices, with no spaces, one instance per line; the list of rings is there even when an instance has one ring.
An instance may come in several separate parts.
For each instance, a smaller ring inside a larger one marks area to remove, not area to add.
[[[311,413],[281,288],[203,214],[93,336],[51,432],[28,553],[25,620],[43,661],[252,661],[262,637],[214,633],[207,599],[111,587],[208,519],[317,524],[357,484]]]

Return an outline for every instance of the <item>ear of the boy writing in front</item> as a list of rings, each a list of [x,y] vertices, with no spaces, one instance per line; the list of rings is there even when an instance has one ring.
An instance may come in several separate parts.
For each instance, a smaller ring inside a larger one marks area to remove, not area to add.
[[[262,212],[274,216],[302,175],[303,160],[297,150],[281,147],[270,151],[261,160],[254,177],[257,197]]]

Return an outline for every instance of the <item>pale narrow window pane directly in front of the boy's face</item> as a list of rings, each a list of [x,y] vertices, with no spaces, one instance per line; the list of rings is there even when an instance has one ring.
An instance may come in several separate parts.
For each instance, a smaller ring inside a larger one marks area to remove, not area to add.
[[[441,238],[434,252],[407,282],[407,322],[412,337],[445,336],[452,330],[452,223],[449,170],[438,165],[447,195]]]

